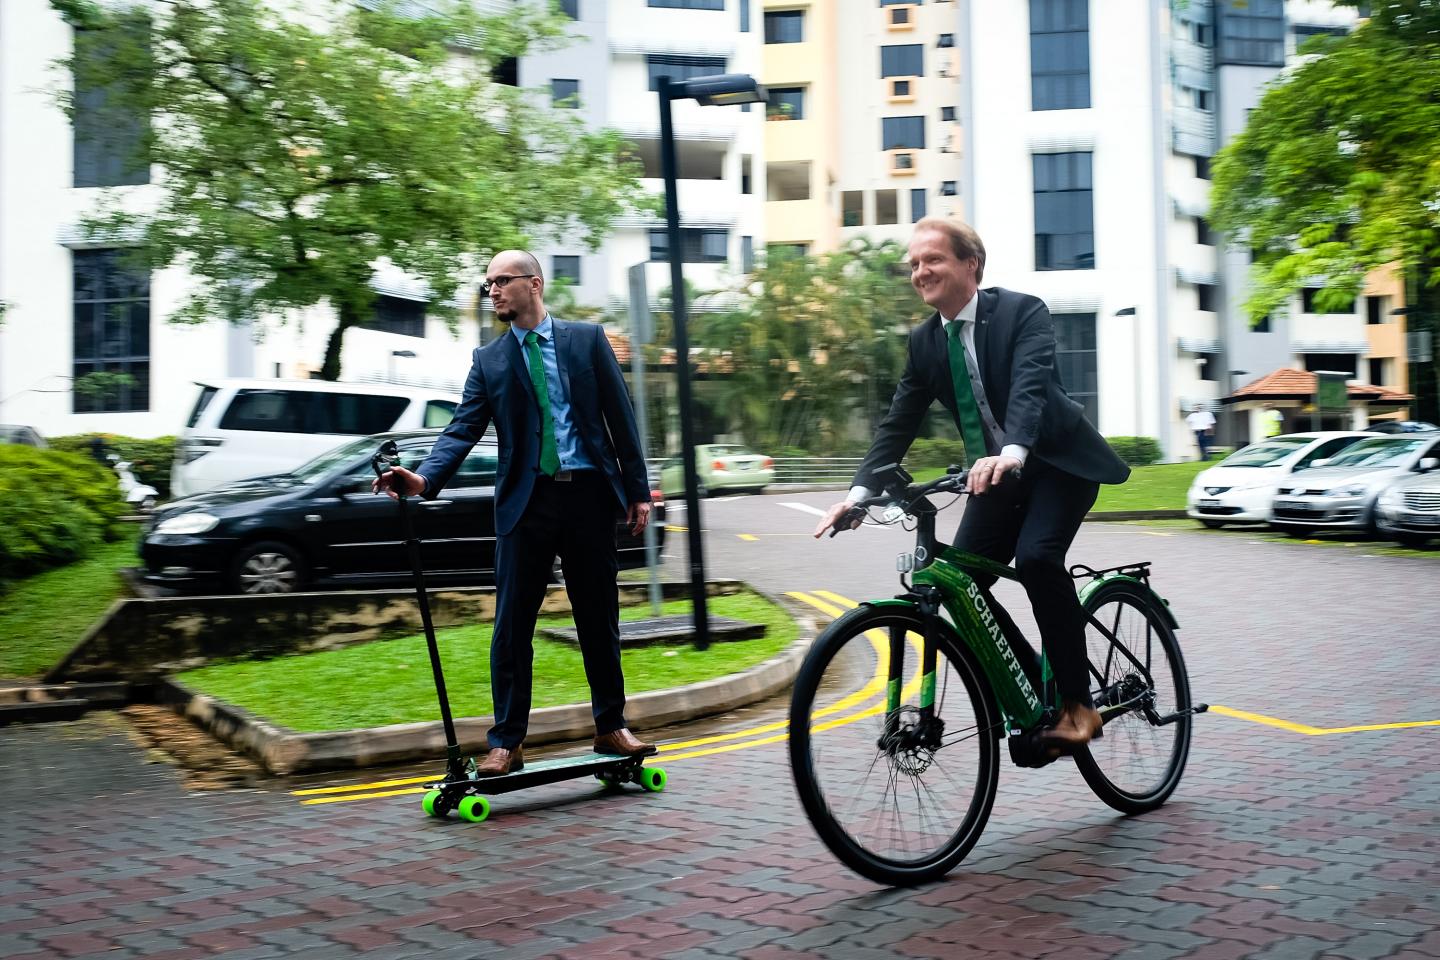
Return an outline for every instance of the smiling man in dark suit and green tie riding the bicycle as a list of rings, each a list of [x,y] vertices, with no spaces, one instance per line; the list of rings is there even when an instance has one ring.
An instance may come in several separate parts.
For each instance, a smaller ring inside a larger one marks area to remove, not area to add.
[[[969,225],[920,220],[909,263],[910,284],[936,312],[910,331],[890,412],[850,494],[829,508],[815,535],[860,525],[847,515],[883,485],[877,468],[900,462],[939,400],[965,440],[966,489],[973,494],[955,545],[998,563],[1014,558],[1063,701],[1045,738],[1080,747],[1100,735],[1102,723],[1086,671],[1086,615],[1066,553],[1100,484],[1123,484],[1130,468],[1061,386],[1045,304],[998,286],[979,289],[985,245]],[[1012,471],[1018,478],[1008,476]],[[988,587],[995,579],[976,580]]]

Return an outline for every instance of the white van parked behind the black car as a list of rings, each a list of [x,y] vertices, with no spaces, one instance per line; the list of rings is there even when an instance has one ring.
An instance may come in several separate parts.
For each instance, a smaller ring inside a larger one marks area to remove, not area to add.
[[[200,396],[176,445],[174,495],[246,476],[284,474],[341,442],[446,426],[459,394],[393,383],[196,381]]]

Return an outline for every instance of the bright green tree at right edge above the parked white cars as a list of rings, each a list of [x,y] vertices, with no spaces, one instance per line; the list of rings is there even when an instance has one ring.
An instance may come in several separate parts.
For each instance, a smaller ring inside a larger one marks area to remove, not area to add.
[[[1354,3],[1349,6],[1355,6]],[[1282,75],[1214,166],[1211,217],[1256,252],[1251,317],[1315,278],[1322,307],[1400,263],[1410,330],[1437,330],[1440,288],[1440,3],[1374,4],[1345,37]],[[1411,377],[1417,415],[1440,419],[1436,364]]]

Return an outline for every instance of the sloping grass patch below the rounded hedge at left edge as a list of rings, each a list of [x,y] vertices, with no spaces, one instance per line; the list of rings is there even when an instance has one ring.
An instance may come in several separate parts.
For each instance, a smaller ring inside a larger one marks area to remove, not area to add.
[[[26,577],[0,593],[0,676],[33,678],[55,666],[122,593],[140,525],[85,560]]]

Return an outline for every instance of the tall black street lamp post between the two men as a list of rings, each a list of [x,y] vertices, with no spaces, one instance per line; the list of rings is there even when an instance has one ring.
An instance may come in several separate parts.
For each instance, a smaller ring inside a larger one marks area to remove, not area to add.
[[[696,76],[671,82],[655,79],[660,95],[660,167],[665,180],[665,236],[670,248],[670,296],[675,322],[675,376],[680,400],[680,456],[685,471],[685,530],[690,544],[690,599],[694,603],[696,649],[710,646],[710,613],[706,607],[706,560],[700,537],[700,494],[696,471],[696,443],[690,415],[690,332],[685,317],[685,275],[680,246],[680,187],[677,186],[675,131],[670,104],[694,99],[701,107],[763,104],[765,88],[747,73]]]

